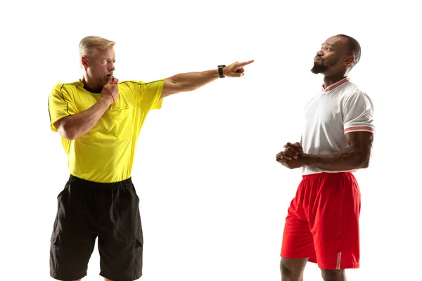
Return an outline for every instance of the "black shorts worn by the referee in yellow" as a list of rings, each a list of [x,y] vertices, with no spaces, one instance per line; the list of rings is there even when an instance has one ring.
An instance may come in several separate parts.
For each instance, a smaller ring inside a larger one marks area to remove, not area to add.
[[[70,281],[86,276],[96,237],[101,276],[113,281],[141,277],[143,235],[139,197],[131,178],[118,183],[94,183],[70,176],[57,200],[51,235],[51,277]]]

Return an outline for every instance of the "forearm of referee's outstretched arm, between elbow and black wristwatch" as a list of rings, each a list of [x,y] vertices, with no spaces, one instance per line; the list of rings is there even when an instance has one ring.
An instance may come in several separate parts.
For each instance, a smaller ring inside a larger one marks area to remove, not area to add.
[[[188,72],[171,77],[172,83],[179,85],[180,92],[194,91],[219,78],[218,70]]]

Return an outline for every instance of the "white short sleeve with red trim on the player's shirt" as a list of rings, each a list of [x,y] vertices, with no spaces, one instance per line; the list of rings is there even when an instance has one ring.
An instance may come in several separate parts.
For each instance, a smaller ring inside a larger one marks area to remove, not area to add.
[[[344,132],[369,131],[375,133],[373,103],[366,93],[357,92],[348,96],[343,104]]]

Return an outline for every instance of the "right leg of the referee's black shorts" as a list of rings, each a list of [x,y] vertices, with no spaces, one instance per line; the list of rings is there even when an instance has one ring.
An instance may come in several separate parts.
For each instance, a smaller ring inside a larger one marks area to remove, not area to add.
[[[110,280],[137,280],[142,275],[143,254],[139,197],[130,182],[110,190],[109,198],[98,234],[100,274]]]

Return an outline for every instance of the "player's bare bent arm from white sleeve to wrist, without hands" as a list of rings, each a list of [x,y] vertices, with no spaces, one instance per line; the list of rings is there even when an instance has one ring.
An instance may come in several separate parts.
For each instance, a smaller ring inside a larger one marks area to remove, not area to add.
[[[349,147],[326,155],[302,154],[299,160],[307,166],[343,171],[365,169],[369,166],[373,133],[354,131],[345,134]]]

